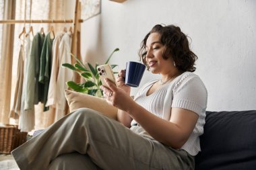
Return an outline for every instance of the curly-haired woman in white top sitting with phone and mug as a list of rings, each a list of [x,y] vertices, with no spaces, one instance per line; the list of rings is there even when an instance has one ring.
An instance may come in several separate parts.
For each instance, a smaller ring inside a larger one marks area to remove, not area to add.
[[[162,77],[146,83],[134,100],[125,71],[117,87],[106,79],[109,88],[102,91],[119,108],[121,124],[79,109],[13,151],[20,169],[194,169],[207,105],[205,86],[192,73],[197,56],[172,25],[154,26],[139,54]]]

